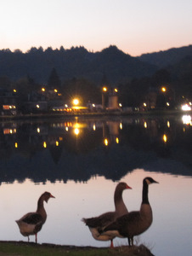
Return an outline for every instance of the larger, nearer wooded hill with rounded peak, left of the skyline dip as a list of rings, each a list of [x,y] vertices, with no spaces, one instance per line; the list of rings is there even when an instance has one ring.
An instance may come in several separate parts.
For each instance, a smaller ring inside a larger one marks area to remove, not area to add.
[[[37,83],[47,83],[51,70],[55,68],[61,81],[85,78],[100,84],[105,76],[110,84],[134,78],[150,76],[156,71],[154,65],[145,63],[123,53],[116,46],[101,52],[88,52],[83,47],[71,49],[43,50],[31,48],[27,53],[20,50],[0,50],[0,77],[17,80],[30,76]]]

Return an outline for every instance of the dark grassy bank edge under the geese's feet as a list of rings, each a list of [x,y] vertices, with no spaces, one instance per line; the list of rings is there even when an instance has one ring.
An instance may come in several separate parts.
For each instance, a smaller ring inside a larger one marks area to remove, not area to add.
[[[36,244],[24,241],[0,241],[0,256],[155,256],[144,245],[134,247],[76,247]]]

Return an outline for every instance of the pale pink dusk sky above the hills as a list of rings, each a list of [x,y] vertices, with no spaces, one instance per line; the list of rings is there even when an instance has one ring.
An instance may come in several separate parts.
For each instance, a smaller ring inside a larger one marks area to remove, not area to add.
[[[191,0],[2,0],[0,49],[116,45],[138,56],[192,44]]]

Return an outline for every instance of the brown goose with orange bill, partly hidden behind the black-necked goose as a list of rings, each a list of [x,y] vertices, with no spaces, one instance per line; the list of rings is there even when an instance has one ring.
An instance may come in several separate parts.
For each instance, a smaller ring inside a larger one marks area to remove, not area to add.
[[[99,217],[82,218],[82,221],[88,225],[89,230],[95,240],[108,241],[110,240],[110,247],[113,247],[113,236],[110,236],[110,231],[101,234],[104,227],[114,222],[116,218],[126,214],[127,207],[122,200],[122,192],[124,189],[132,189],[127,183],[118,183],[114,193],[115,212],[105,212]]]

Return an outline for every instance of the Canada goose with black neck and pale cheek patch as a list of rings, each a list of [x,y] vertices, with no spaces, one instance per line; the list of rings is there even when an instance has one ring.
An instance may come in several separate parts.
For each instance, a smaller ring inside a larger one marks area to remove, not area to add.
[[[104,232],[113,232],[114,237],[127,237],[129,246],[133,245],[133,236],[138,236],[150,228],[153,221],[152,209],[148,200],[148,188],[151,183],[157,183],[152,177],[143,181],[143,199],[138,212],[129,212],[104,228]]]

